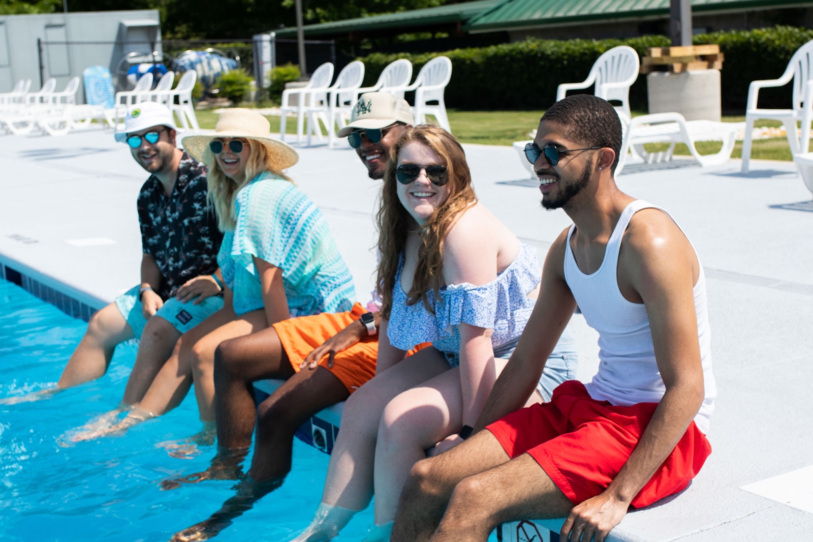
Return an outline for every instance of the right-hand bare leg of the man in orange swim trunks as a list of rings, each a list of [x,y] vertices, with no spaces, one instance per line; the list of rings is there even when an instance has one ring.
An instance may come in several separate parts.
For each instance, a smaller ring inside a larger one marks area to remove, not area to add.
[[[280,487],[291,469],[293,434],[298,426],[348,395],[341,381],[322,367],[289,378],[259,405],[254,458],[249,476],[237,484],[237,495],[210,518],[180,531],[172,540],[207,540]]]

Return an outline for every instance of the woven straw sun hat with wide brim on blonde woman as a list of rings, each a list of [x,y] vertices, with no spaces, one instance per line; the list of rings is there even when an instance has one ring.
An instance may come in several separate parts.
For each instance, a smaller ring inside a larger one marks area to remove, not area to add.
[[[186,136],[181,140],[181,144],[195,160],[211,165],[215,158],[209,150],[209,143],[215,138],[246,138],[263,143],[268,150],[271,167],[276,171],[290,168],[299,160],[299,155],[292,146],[271,137],[271,125],[268,120],[250,109],[223,111],[215,125],[215,133]]]

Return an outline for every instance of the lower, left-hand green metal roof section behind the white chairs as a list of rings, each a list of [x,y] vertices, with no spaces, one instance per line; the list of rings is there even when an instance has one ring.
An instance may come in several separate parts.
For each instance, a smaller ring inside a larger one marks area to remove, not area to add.
[[[668,1],[668,0],[667,0]],[[435,24],[465,23],[482,11],[495,7],[502,0],[475,0],[447,6],[427,7],[420,10],[396,11],[384,15],[337,20],[330,23],[307,24],[302,27],[305,37],[326,37],[349,32],[385,30],[387,28],[420,28]],[[277,37],[296,37],[297,28],[275,30]]]

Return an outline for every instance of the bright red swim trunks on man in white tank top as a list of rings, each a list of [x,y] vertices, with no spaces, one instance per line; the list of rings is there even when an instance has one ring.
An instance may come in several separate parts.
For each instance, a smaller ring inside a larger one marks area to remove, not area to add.
[[[550,403],[534,404],[486,427],[511,457],[528,453],[574,505],[610,485],[641,439],[657,403],[613,406],[590,398],[585,385],[563,382]],[[711,444],[692,422],[675,449],[633,499],[635,508],[679,492]]]

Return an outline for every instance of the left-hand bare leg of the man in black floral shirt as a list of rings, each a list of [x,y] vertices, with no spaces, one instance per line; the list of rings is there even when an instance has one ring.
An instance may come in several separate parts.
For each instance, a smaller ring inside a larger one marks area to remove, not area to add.
[[[115,303],[94,313],[85,335],[67,361],[57,387],[76,386],[105,374],[115,346],[133,339],[133,336],[133,328],[121,316]]]

